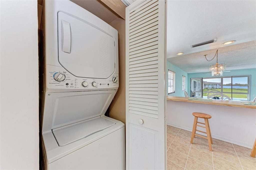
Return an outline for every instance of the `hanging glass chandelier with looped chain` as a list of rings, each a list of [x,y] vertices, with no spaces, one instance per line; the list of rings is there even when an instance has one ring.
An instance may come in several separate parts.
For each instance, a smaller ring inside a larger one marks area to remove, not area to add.
[[[218,50],[216,51],[215,56],[211,60],[208,60],[206,58],[207,54],[204,56],[207,61],[211,61],[217,56],[216,64],[210,64],[209,71],[211,72],[211,76],[222,76],[223,70],[226,70],[226,63],[218,63]]]

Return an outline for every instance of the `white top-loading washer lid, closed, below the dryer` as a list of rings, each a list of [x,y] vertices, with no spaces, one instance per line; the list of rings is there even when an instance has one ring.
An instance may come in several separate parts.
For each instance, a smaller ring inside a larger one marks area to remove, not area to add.
[[[57,129],[52,129],[52,133],[59,146],[65,146],[82,138],[113,126],[115,122],[98,117],[92,120],[78,122]]]

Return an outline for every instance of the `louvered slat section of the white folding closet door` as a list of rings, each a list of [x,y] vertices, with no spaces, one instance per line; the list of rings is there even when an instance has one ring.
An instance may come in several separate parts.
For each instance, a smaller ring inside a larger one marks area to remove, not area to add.
[[[158,1],[143,2],[129,18],[129,112],[158,116]]]

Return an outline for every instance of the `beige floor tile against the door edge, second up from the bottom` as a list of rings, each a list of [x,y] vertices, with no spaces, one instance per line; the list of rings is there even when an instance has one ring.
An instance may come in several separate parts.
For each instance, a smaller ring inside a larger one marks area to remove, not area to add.
[[[174,163],[185,167],[187,161],[187,155],[180,153],[172,148],[167,151],[167,159],[173,161]]]

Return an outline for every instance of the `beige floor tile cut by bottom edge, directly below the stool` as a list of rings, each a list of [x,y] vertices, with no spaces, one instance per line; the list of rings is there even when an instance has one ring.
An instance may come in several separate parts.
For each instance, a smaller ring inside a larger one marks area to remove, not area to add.
[[[207,165],[203,162],[200,162],[190,156],[188,157],[187,165],[185,168],[188,170],[207,170],[207,169],[213,170],[212,166]]]

